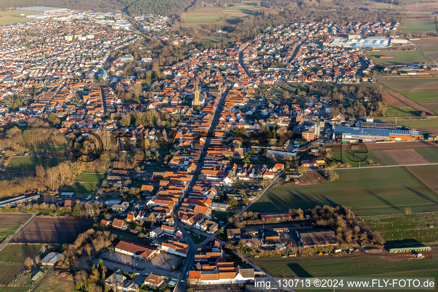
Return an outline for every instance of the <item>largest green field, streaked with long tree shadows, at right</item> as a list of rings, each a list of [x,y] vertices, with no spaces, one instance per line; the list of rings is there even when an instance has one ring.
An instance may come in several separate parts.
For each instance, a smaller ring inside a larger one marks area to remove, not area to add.
[[[357,215],[436,211],[438,196],[402,167],[336,169],[339,181],[271,187],[249,211],[283,212],[289,208],[345,205]]]

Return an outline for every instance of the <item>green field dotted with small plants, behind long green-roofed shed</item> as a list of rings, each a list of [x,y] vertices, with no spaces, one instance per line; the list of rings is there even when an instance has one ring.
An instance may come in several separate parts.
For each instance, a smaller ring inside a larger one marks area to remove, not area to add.
[[[403,243],[436,243],[438,241],[438,212],[411,215],[372,216],[361,218],[372,232],[379,232],[387,241]],[[431,227],[433,226],[433,227]]]

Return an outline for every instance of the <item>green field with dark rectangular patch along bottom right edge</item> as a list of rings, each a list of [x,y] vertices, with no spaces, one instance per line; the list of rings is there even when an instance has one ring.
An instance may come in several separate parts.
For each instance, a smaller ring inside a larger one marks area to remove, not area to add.
[[[272,258],[254,260],[273,277],[334,278],[334,277],[436,277],[438,257],[423,260],[388,261],[377,255],[352,257]],[[403,274],[398,274],[403,273]],[[391,275],[393,274],[393,275]],[[403,275],[403,276],[402,276]],[[310,290],[304,290],[310,291]],[[333,290],[317,290],[333,291]],[[342,290],[348,291],[348,290]],[[352,290],[350,290],[352,291]],[[364,290],[365,291],[365,290]],[[383,291],[383,290],[378,290]],[[395,291],[395,290],[387,290]],[[420,291],[420,290],[417,290]],[[430,290],[423,290],[430,291]]]

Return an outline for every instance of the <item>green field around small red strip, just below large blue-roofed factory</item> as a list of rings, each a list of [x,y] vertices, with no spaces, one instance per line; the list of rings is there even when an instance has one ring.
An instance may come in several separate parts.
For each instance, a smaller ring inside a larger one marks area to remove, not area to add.
[[[372,57],[373,62],[377,65],[412,64],[432,61],[420,51],[365,51],[365,53]],[[380,59],[379,56],[394,56],[394,58]]]

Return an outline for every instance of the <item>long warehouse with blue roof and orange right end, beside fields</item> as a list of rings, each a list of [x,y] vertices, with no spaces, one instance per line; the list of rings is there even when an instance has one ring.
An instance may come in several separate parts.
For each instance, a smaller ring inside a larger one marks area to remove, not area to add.
[[[420,131],[335,126],[333,139],[342,143],[402,141],[421,139]]]

